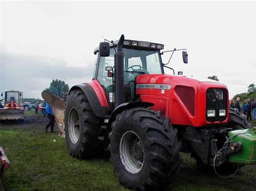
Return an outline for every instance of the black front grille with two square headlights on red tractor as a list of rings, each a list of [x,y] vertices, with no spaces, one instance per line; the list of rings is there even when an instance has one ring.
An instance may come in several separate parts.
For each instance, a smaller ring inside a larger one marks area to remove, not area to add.
[[[223,88],[209,88],[207,90],[206,118],[209,122],[224,121],[227,116],[227,90]],[[225,116],[220,116],[220,110],[225,109]],[[214,117],[208,117],[208,111],[215,111]]]

